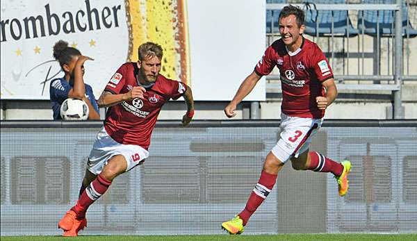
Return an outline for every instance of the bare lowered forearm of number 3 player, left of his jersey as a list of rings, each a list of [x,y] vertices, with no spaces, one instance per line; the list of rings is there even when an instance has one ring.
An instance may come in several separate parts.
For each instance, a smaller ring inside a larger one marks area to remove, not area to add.
[[[242,101],[243,98],[245,98],[247,94],[254,89],[256,83],[258,83],[261,77],[262,76],[259,76],[255,71],[253,71],[245,78],[245,80],[240,84],[238,92],[236,92],[234,98],[230,101],[226,108],[224,108],[224,114],[226,114],[227,117],[231,118],[236,115],[236,106],[238,106],[238,103],[240,103],[240,101]]]

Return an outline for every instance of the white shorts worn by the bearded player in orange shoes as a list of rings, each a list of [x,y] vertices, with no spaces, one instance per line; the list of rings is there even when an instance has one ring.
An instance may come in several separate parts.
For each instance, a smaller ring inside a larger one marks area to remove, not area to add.
[[[126,159],[128,172],[133,167],[145,162],[149,152],[134,144],[120,144],[111,138],[103,127],[97,134],[88,157],[87,168],[92,174],[100,174],[108,160],[116,155],[122,155]]]

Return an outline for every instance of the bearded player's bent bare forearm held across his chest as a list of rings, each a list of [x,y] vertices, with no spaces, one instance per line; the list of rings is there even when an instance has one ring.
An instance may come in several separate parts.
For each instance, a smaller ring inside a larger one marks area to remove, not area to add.
[[[113,94],[108,91],[104,91],[97,101],[99,108],[115,106],[122,101],[130,101],[135,98],[143,99],[143,94],[146,92],[142,86],[135,86],[132,90],[124,94]]]

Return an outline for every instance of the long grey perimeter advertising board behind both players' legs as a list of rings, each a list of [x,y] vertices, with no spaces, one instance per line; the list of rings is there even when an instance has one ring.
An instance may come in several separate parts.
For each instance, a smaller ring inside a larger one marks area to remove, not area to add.
[[[101,122],[2,121],[1,235],[60,235]],[[329,120],[311,150],[350,159],[350,191],[286,165],[245,233],[415,233],[417,121]],[[144,165],[115,179],[81,235],[218,234],[245,206],[279,120],[160,121]],[[161,222],[164,220],[164,222]],[[199,222],[195,222],[199,220]]]

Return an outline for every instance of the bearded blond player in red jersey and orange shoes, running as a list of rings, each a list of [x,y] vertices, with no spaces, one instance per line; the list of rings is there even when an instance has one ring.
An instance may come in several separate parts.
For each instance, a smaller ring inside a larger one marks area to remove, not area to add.
[[[106,192],[113,179],[142,164],[149,156],[152,131],[167,101],[183,97],[187,113],[182,124],[188,125],[193,118],[190,87],[159,74],[161,46],[146,42],[138,51],[138,62],[124,63],[99,98],[99,106],[108,107],[104,127],[88,157],[79,200],[58,222],[64,236],[77,236],[87,224],[88,207]]]

